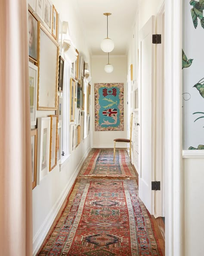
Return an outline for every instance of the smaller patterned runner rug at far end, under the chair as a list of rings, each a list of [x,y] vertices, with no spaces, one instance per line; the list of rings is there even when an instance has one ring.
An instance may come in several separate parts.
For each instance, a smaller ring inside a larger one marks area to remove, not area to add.
[[[125,149],[93,149],[80,176],[136,177]]]

